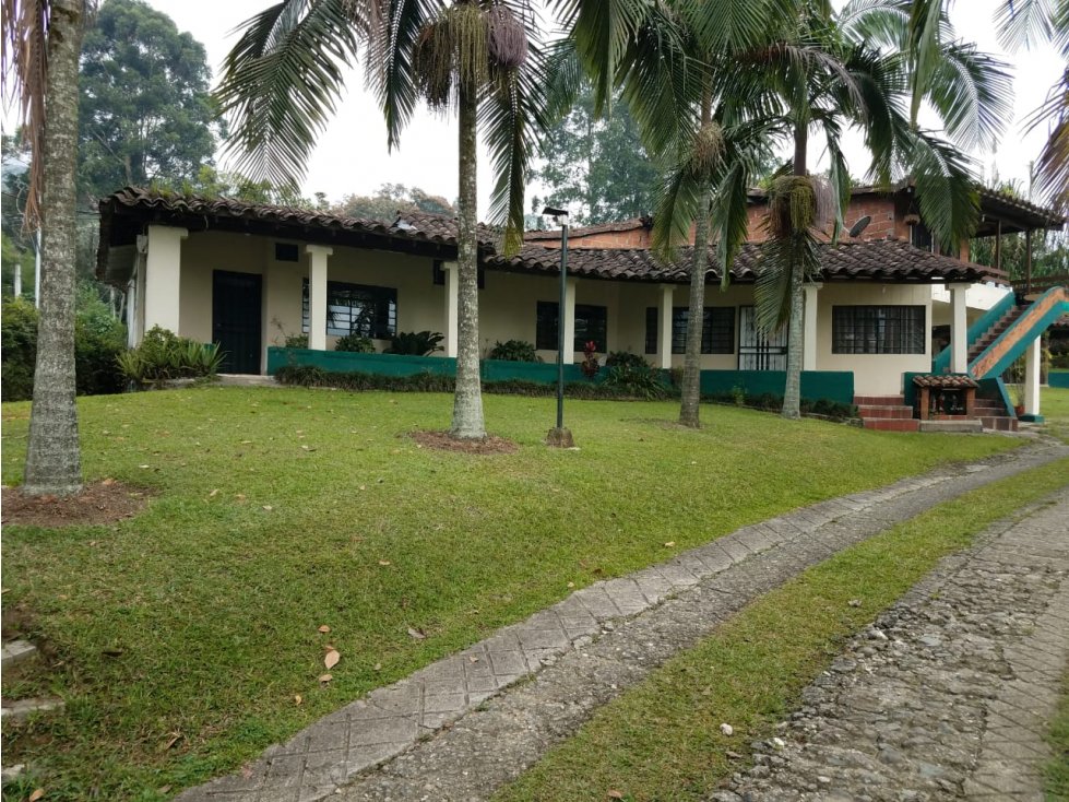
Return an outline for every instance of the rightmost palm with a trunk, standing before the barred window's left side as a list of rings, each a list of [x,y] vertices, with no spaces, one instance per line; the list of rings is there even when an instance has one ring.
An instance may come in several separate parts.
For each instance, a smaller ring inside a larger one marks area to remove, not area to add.
[[[786,102],[783,121],[794,153],[769,193],[770,238],[755,305],[761,328],[788,330],[785,417],[800,416],[803,288],[819,274],[819,236],[838,238],[850,201],[850,175],[840,149],[845,127],[864,131],[875,182],[887,186],[895,176],[915,182],[920,211],[943,250],[955,252],[975,228],[978,205],[969,161],[948,142],[911,125],[902,108],[908,61],[903,63],[898,52],[907,47],[908,5],[855,0],[838,17],[810,5],[796,37],[770,50],[770,74]],[[993,143],[1008,111],[1005,66],[951,42],[946,19],[940,31],[928,57],[935,68],[923,97],[959,143]],[[881,45],[886,50],[876,49]],[[823,134],[828,181],[807,170],[812,131]]]

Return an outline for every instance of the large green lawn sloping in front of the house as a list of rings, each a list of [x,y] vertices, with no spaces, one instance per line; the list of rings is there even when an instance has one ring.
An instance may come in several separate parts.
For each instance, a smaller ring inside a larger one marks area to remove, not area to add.
[[[487,397],[513,455],[417,448],[440,394],[199,388],[80,401],[86,477],[155,493],[110,527],[5,527],[3,604],[55,656],[8,697],[61,716],[4,733],[49,799],[155,799],[563,598],[784,510],[1012,448],[711,406]],[[5,483],[29,406],[5,404]],[[674,542],[674,547],[666,547]],[[318,632],[326,624],[329,636]],[[426,633],[413,638],[408,629]],[[321,687],[323,647],[342,654]],[[296,704],[295,696],[301,696]],[[5,728],[8,729],[8,728]]]

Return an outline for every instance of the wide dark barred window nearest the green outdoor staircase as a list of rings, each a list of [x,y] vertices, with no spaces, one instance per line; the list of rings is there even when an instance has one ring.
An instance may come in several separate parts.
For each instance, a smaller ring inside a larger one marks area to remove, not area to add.
[[[833,306],[833,354],[923,354],[923,306]]]

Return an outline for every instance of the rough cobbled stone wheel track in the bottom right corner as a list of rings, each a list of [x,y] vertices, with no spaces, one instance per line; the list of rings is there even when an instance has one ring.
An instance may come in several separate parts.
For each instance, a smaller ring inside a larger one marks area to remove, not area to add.
[[[1042,802],[1069,658],[1069,491],[948,557],[714,802]]]

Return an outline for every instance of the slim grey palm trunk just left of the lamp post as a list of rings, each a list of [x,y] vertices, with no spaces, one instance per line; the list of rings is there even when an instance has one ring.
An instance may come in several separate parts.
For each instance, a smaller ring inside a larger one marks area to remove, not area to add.
[[[453,396],[453,437],[476,440],[486,437],[483,421],[483,386],[479,381],[479,309],[478,309],[478,210],[475,172],[475,117],[477,103],[474,87],[461,82],[460,118],[460,194],[456,202],[456,272],[460,285],[456,333],[456,392]]]

